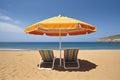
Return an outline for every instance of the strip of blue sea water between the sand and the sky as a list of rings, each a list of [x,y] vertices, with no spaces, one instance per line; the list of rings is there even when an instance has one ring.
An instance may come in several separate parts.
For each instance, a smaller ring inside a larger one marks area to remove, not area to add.
[[[82,50],[97,49],[118,49],[119,42],[62,42],[64,48],[79,48]],[[0,42],[0,50],[22,49],[22,50],[38,50],[38,49],[59,49],[58,42]]]

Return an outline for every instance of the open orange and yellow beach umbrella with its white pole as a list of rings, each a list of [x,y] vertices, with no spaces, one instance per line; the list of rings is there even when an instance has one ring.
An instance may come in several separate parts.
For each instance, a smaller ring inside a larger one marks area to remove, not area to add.
[[[84,35],[96,32],[96,27],[66,16],[55,16],[28,26],[26,33],[34,35],[59,36],[61,66],[61,36]]]

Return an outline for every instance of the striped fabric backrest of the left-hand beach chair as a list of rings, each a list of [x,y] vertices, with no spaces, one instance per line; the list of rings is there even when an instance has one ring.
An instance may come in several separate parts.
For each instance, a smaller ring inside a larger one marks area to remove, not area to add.
[[[52,62],[54,55],[53,50],[39,50],[42,60],[45,62]]]

